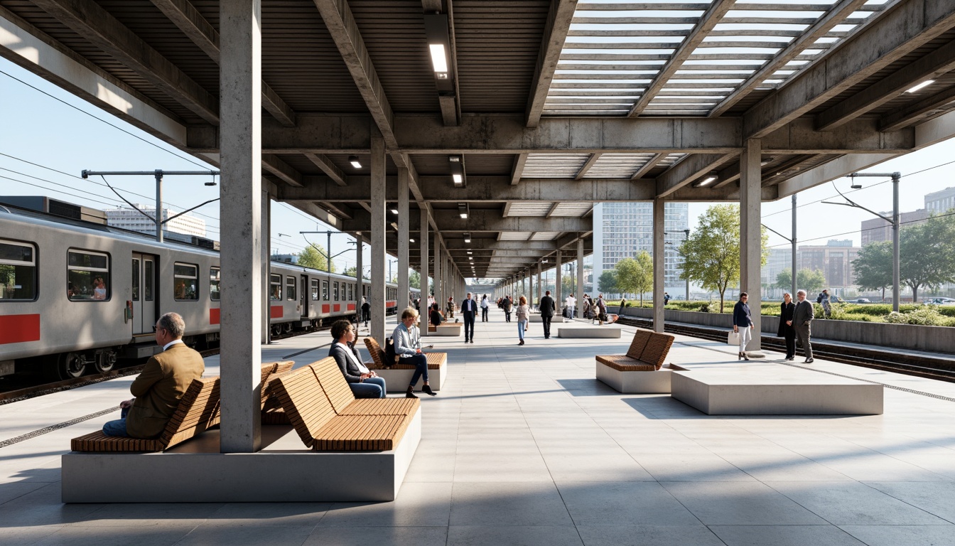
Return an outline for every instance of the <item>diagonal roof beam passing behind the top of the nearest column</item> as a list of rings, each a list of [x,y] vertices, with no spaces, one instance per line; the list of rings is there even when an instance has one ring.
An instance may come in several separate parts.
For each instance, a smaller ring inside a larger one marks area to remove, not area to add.
[[[209,55],[216,64],[220,63],[219,32],[188,0],[151,1],[205,55]],[[295,126],[295,112],[265,81],[262,82],[262,107],[286,127]]]

